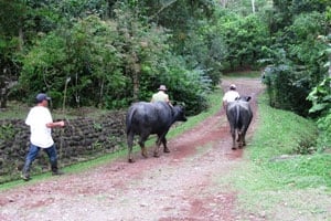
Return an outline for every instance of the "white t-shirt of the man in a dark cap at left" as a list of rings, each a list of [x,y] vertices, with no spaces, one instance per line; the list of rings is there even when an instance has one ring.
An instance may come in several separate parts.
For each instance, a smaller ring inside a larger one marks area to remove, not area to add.
[[[30,109],[25,124],[30,126],[30,141],[33,145],[47,148],[54,144],[52,129],[46,127],[46,124],[52,122],[53,119],[49,108],[35,106]]]

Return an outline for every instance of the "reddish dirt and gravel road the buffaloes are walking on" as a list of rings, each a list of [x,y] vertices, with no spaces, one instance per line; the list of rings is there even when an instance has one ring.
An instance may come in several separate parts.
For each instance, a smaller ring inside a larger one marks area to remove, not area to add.
[[[235,83],[241,94],[253,97],[256,127],[258,80],[223,81]],[[220,95],[221,102],[221,95]],[[263,220],[258,214],[237,210],[236,190],[217,180],[236,169],[242,150],[232,150],[223,109],[181,136],[169,139],[170,154],[148,159],[135,156],[38,182],[26,182],[0,192],[0,220],[52,221],[200,221]]]

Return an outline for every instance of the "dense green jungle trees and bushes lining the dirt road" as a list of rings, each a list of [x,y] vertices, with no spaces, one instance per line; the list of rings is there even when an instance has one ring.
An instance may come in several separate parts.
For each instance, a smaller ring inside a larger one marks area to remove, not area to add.
[[[64,113],[119,109],[166,84],[194,115],[224,74],[261,70],[270,105],[314,119],[322,151],[330,28],[328,0],[0,0],[0,106],[45,92]]]

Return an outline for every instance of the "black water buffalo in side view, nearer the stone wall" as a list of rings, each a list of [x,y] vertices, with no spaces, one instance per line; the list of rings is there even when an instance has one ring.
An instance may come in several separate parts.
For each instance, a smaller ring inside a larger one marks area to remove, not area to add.
[[[170,152],[167,147],[166,135],[174,122],[186,122],[184,110],[181,106],[170,106],[164,102],[147,103],[139,102],[130,106],[126,116],[127,127],[127,144],[128,144],[128,161],[134,162],[131,151],[135,135],[139,135],[139,145],[141,155],[147,157],[145,149],[145,141],[151,134],[157,134],[157,145],[154,149],[154,157],[159,157],[159,149],[161,143],[163,144],[163,151]]]

